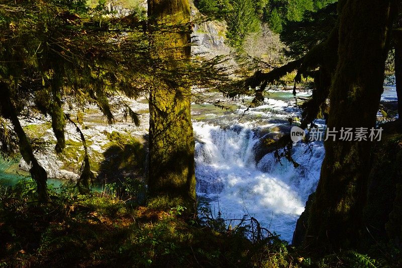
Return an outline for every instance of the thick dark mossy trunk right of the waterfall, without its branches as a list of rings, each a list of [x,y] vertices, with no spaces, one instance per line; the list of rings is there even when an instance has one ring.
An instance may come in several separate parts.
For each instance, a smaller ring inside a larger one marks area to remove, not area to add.
[[[391,2],[339,2],[339,58],[330,89],[328,129],[375,127],[393,17]],[[332,251],[357,244],[370,147],[369,141],[325,142],[326,155],[306,236],[310,246]]]

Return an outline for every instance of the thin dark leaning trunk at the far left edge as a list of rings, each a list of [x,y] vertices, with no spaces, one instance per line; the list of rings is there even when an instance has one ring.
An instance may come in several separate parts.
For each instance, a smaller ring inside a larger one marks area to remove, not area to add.
[[[40,202],[44,203],[48,200],[46,170],[38,163],[38,160],[35,158],[31,143],[29,142],[29,139],[25,134],[20,121],[18,120],[18,112],[11,99],[11,93],[8,84],[4,82],[0,83],[0,94],[2,95],[2,98],[0,98],[1,115],[9,119],[14,126],[14,131],[18,136],[20,153],[25,162],[31,165],[29,172],[36,182],[38,199]]]

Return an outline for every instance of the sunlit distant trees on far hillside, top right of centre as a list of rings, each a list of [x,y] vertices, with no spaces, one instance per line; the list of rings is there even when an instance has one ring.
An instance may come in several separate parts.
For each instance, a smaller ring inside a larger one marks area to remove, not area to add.
[[[286,62],[288,58],[301,57],[309,49],[325,41],[337,20],[336,2],[337,0],[199,0],[195,4],[205,15],[227,22],[228,43],[236,49],[236,57],[247,72],[256,68],[270,69]],[[280,34],[280,41],[286,46],[282,46],[279,41],[276,43],[280,47],[277,51],[270,48],[250,53],[250,47],[255,47],[267,37],[275,39],[277,34]]]

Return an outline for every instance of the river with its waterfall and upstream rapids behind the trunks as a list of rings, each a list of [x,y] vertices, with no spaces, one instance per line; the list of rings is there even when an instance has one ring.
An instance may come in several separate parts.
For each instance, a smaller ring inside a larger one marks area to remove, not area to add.
[[[322,142],[296,143],[292,156],[300,164],[297,168],[285,158],[277,161],[273,153],[256,160],[260,138],[288,131],[287,119],[299,115],[291,91],[268,91],[266,97],[264,105],[246,113],[240,100],[232,103],[230,111],[192,104],[196,192],[209,201],[215,215],[220,211],[222,217],[232,219],[248,214],[290,242],[296,220],[317,187],[325,150]],[[381,101],[396,102],[393,86],[385,87]],[[3,183],[13,185],[28,175],[17,171],[18,162],[3,161]],[[57,187],[61,182],[49,183]]]

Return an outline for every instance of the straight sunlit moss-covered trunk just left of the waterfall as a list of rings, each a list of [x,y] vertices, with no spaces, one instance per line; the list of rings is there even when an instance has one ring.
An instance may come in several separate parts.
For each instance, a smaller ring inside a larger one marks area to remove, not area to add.
[[[148,17],[154,25],[186,23],[190,18],[188,1],[149,0]],[[153,56],[172,76],[163,75],[150,93],[148,189],[153,200],[167,198],[191,206],[195,201],[191,91],[181,86],[181,77],[175,77],[175,70],[190,57],[190,33],[185,27],[174,32],[150,31]]]

